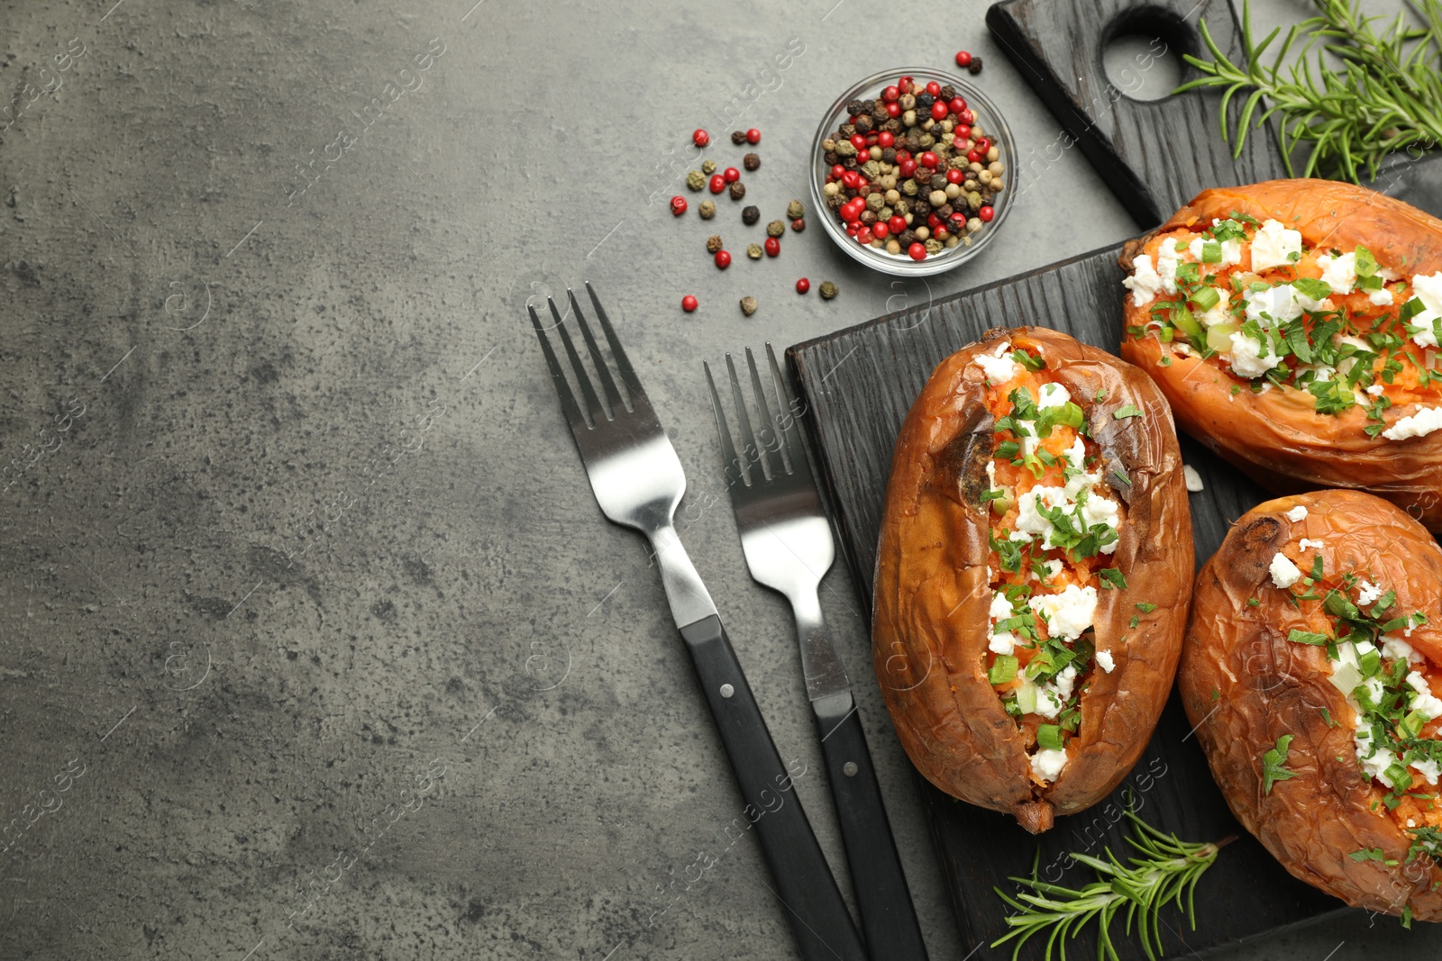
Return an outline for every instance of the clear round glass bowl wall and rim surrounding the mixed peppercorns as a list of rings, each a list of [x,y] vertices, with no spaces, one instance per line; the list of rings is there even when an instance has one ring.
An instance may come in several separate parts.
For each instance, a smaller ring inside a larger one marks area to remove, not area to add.
[[[881,91],[890,84],[895,84],[897,78],[910,76],[914,81],[927,84],[936,81],[943,86],[950,84],[956,88],[959,97],[966,99],[966,107],[976,114],[976,121],[981,124],[982,131],[986,137],[992,138],[996,147],[1001,148],[1001,161],[1007,166],[1002,174],[1002,182],[1007,184],[1007,190],[1002,190],[992,205],[995,216],[991,223],[983,226],[973,235],[962,238],[962,242],[956,246],[946,248],[934,256],[927,256],[924,261],[913,261],[910,256],[903,254],[887,254],[884,249],[877,249],[872,246],[865,246],[858,243],[854,238],[846,233],[846,228],[842,225],[841,218],[835,210],[826,206],[826,196],[822,187],[826,183],[826,174],[831,167],[822,158],[823,150],[820,147],[822,141],[826,140],[835,130],[846,120],[849,115],[846,112],[846,104],[852,99],[875,99],[881,95]],[[992,238],[1001,231],[1001,225],[1007,220],[1007,215],[1011,212],[1011,197],[1008,190],[1014,186],[1011,176],[1014,174],[1014,164],[1017,163],[1017,144],[1011,137],[1011,127],[1007,125],[1007,118],[1001,115],[996,105],[991,99],[976,89],[973,85],[968,84],[955,73],[947,73],[945,71],[934,71],[923,66],[916,68],[897,68],[890,71],[883,71],[874,73],[859,84],[854,85],[831,105],[826,114],[822,117],[820,125],[816,128],[816,137],[812,140],[812,156],[810,156],[810,195],[812,207],[816,210],[816,216],[820,218],[822,226],[826,235],[836,242],[842,251],[849,256],[861,261],[867,267],[883,271],[884,274],[893,274],[897,277],[929,277],[932,274],[940,274],[949,271],[955,267],[960,267],[966,261],[972,259],[986,248]],[[970,242],[968,242],[968,239]]]

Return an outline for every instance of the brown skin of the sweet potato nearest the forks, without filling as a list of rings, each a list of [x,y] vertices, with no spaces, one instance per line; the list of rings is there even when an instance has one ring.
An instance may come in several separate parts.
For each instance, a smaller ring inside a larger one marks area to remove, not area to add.
[[[988,487],[992,416],[972,359],[998,339],[1038,352],[1083,408],[1105,475],[1125,503],[1115,566],[1128,586],[1100,591],[1082,726],[1060,777],[1035,788],[1022,733],[986,679]],[[1105,390],[1105,401],[1094,401]],[[1118,421],[1136,405],[1145,414]],[[1122,471],[1131,487],[1115,481]],[[1131,365],[1041,327],[989,330],[937,366],[897,439],[877,552],[872,658],[913,764],[937,788],[1011,813],[1031,831],[1105,798],[1136,764],[1171,692],[1191,586],[1191,513],[1171,414]],[[1155,604],[1142,614],[1136,602]],[[1133,615],[1136,628],[1128,622]],[[1122,641],[1125,635],[1125,641]]]

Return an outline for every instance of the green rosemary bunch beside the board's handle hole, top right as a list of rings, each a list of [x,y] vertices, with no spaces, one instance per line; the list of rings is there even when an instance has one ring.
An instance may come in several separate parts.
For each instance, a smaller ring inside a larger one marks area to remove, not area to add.
[[[1246,68],[1217,48],[1207,23],[1201,36],[1213,61],[1187,55],[1185,61],[1203,76],[1188,81],[1175,92],[1201,86],[1224,86],[1221,98],[1221,138],[1227,131],[1227,107],[1233,97],[1246,95],[1236,125],[1233,156],[1242,156],[1250,127],[1260,127],[1273,114],[1279,118],[1278,140],[1289,176],[1292,153],[1311,144],[1304,177],[1328,176],[1360,183],[1358,171],[1376,180],[1377,164],[1397,150],[1429,150],[1442,144],[1442,0],[1407,0],[1423,26],[1409,26],[1399,12],[1380,33],[1373,23],[1380,16],[1366,16],[1358,0],[1312,0],[1318,16],[1296,23],[1286,33],[1272,66],[1262,55],[1280,33],[1272,30],[1262,43],[1252,39],[1250,3],[1242,12],[1242,46]],[[1282,61],[1299,36],[1306,36],[1295,63],[1286,73]],[[1315,69],[1309,55],[1315,50]],[[1332,69],[1325,53],[1341,61]],[[1318,82],[1319,78],[1319,82]],[[1266,107],[1253,124],[1257,107]]]

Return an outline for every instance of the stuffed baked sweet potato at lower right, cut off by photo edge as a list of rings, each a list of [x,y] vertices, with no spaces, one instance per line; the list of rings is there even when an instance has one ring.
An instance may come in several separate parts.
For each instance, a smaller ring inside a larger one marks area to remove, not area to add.
[[[1270,500],[1197,576],[1177,686],[1242,824],[1355,908],[1442,921],[1442,550],[1361,491]]]

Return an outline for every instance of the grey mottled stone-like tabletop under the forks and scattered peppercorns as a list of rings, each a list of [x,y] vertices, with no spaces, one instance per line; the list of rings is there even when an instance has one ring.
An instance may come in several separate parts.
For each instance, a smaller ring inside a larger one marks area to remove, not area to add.
[[[671,428],[682,536],[841,870],[699,360],[1133,228],[1063,154],[1009,242],[930,287],[816,226],[718,272],[704,238],[761,229],[730,200],[709,225],[666,210],[694,127],[722,166],[731,125],[764,131],[766,219],[805,199],[822,107],[893,61],[969,48],[1018,140],[1056,140],[982,6],[901,56],[861,3],[472,3],[0,4],[3,958],[792,957],[754,841],[686,890],[738,801],[523,323],[583,278]],[[933,957],[969,957],[839,569],[823,607]],[[1236,957],[1436,938],[1350,915]]]

